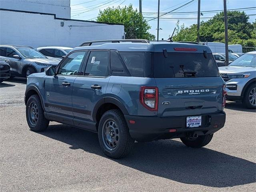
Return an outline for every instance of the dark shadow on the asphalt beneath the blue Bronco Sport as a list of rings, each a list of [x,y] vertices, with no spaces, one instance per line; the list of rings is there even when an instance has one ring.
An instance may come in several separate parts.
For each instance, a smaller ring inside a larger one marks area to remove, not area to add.
[[[70,149],[106,157],[100,149],[98,135],[67,125],[50,125],[46,137],[64,142]],[[237,186],[256,181],[256,164],[208,148],[188,148],[179,141],[161,140],[135,143],[129,156],[112,159],[136,170],[185,184],[211,187]]]

